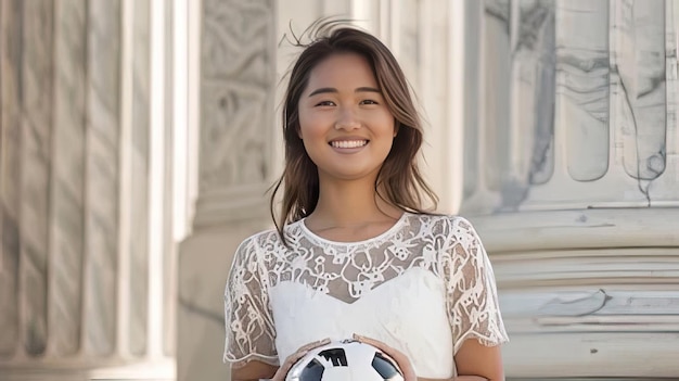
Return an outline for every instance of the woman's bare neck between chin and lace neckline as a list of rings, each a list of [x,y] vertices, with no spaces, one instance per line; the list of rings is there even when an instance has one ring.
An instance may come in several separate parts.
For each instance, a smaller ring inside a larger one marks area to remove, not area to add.
[[[309,219],[319,227],[354,227],[398,219],[401,211],[377,196],[374,181],[320,181]]]

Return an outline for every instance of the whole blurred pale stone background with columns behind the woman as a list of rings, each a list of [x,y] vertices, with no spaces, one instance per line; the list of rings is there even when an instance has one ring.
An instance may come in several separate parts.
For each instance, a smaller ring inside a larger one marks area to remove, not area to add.
[[[679,0],[0,0],[0,380],[229,379],[285,36],[322,16],[418,93],[508,378],[679,379]]]

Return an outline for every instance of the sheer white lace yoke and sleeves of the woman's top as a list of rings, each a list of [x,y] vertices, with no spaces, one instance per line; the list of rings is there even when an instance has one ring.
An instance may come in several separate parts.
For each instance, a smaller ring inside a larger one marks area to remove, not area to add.
[[[285,236],[290,247],[269,230],[235,253],[225,292],[226,361],[279,364],[269,291],[281,282],[350,304],[414,267],[445,284],[454,352],[467,338],[485,345],[508,341],[490,262],[464,218],[406,213],[381,236],[351,243],[324,240],[304,220],[286,226]]]

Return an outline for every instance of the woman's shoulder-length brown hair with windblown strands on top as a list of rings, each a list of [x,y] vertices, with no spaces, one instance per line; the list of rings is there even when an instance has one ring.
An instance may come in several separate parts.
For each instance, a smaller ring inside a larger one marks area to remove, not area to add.
[[[375,180],[377,196],[403,212],[427,213],[423,208],[425,201],[435,208],[438,198],[422,177],[417,163],[424,139],[422,123],[412,101],[410,86],[389,49],[376,37],[338,21],[318,22],[300,37],[305,36],[311,42],[303,43],[300,38],[293,35],[292,43],[304,50],[290,73],[283,101],[285,168],[274,186],[269,205],[271,218],[283,242],[286,242],[284,225],[308,216],[318,203],[318,168],[298,135],[298,103],[309,82],[311,71],[333,54],[356,53],[368,60],[386,105],[395,118],[394,127],[398,134]],[[284,187],[283,204],[277,219],[274,199],[281,186]]]

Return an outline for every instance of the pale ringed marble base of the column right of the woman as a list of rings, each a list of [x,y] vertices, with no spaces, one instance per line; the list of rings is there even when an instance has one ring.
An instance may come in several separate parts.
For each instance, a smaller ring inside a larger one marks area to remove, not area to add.
[[[470,220],[494,265],[508,379],[679,376],[679,208]]]

